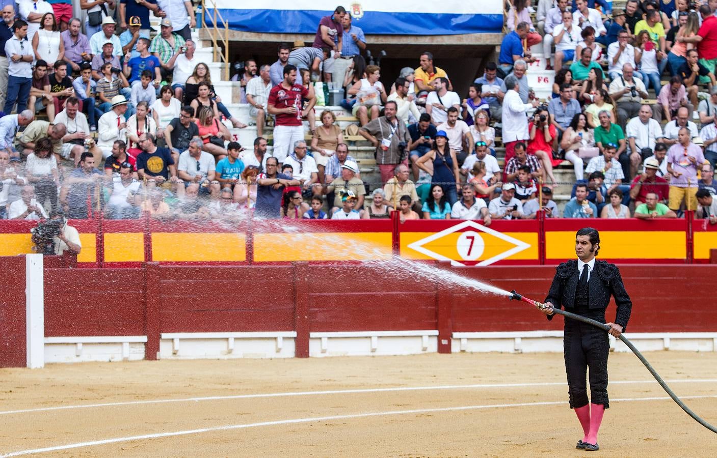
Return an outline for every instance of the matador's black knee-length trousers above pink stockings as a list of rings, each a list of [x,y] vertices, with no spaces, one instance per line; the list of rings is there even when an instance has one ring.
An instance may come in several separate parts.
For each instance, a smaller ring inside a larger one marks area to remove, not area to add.
[[[567,311],[605,323],[604,309]],[[570,408],[576,409],[588,403],[586,375],[589,368],[590,402],[602,404],[608,409],[607,355],[610,344],[607,333],[588,323],[565,318],[563,349]]]

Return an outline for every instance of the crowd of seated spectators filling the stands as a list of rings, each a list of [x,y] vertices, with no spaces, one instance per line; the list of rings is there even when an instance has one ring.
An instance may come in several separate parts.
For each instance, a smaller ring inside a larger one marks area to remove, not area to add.
[[[338,6],[311,44],[280,44],[276,62],[237,67],[232,81],[257,130],[248,147],[231,141],[229,125],[247,126],[194,55],[191,1],[81,0],[84,23],[69,0],[4,4],[0,219],[374,219],[395,210],[401,220],[490,225],[541,211],[653,219],[697,210],[717,223],[714,0],[678,0],[670,11],[654,0],[624,11],[600,0],[513,0],[497,62],[465,97],[431,52],[381,82],[364,31]],[[556,71],[547,102],[528,85],[531,48]],[[358,126],[344,131],[320,109],[324,87],[345,91],[341,106]],[[380,185],[351,155],[360,140],[375,150]],[[561,212],[553,198],[565,166],[574,180]]]

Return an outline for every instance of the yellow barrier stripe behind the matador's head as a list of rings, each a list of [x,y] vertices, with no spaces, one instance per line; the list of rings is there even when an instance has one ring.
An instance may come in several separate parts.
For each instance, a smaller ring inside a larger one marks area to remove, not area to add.
[[[601,230],[600,258],[685,259],[685,233],[678,230]],[[546,259],[575,257],[575,231],[545,233]]]

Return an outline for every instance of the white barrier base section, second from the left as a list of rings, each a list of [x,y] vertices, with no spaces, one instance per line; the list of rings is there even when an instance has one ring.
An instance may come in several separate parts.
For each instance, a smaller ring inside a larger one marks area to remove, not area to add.
[[[159,359],[293,358],[294,331],[163,333]]]

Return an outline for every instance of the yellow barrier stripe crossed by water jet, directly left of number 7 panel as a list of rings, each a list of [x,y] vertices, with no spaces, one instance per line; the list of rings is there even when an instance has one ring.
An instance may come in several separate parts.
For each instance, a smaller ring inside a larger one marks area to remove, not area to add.
[[[256,233],[255,262],[391,257],[391,233]]]

